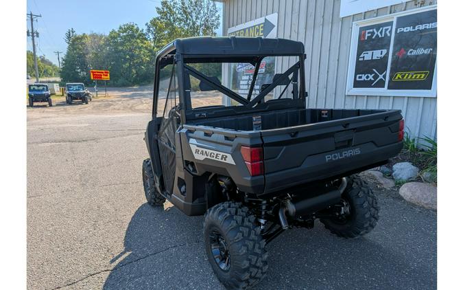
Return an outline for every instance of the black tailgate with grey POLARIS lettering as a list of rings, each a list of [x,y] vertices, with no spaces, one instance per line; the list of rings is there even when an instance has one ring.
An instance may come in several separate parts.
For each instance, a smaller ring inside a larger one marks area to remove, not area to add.
[[[265,193],[327,179],[400,152],[401,111],[261,131]]]

